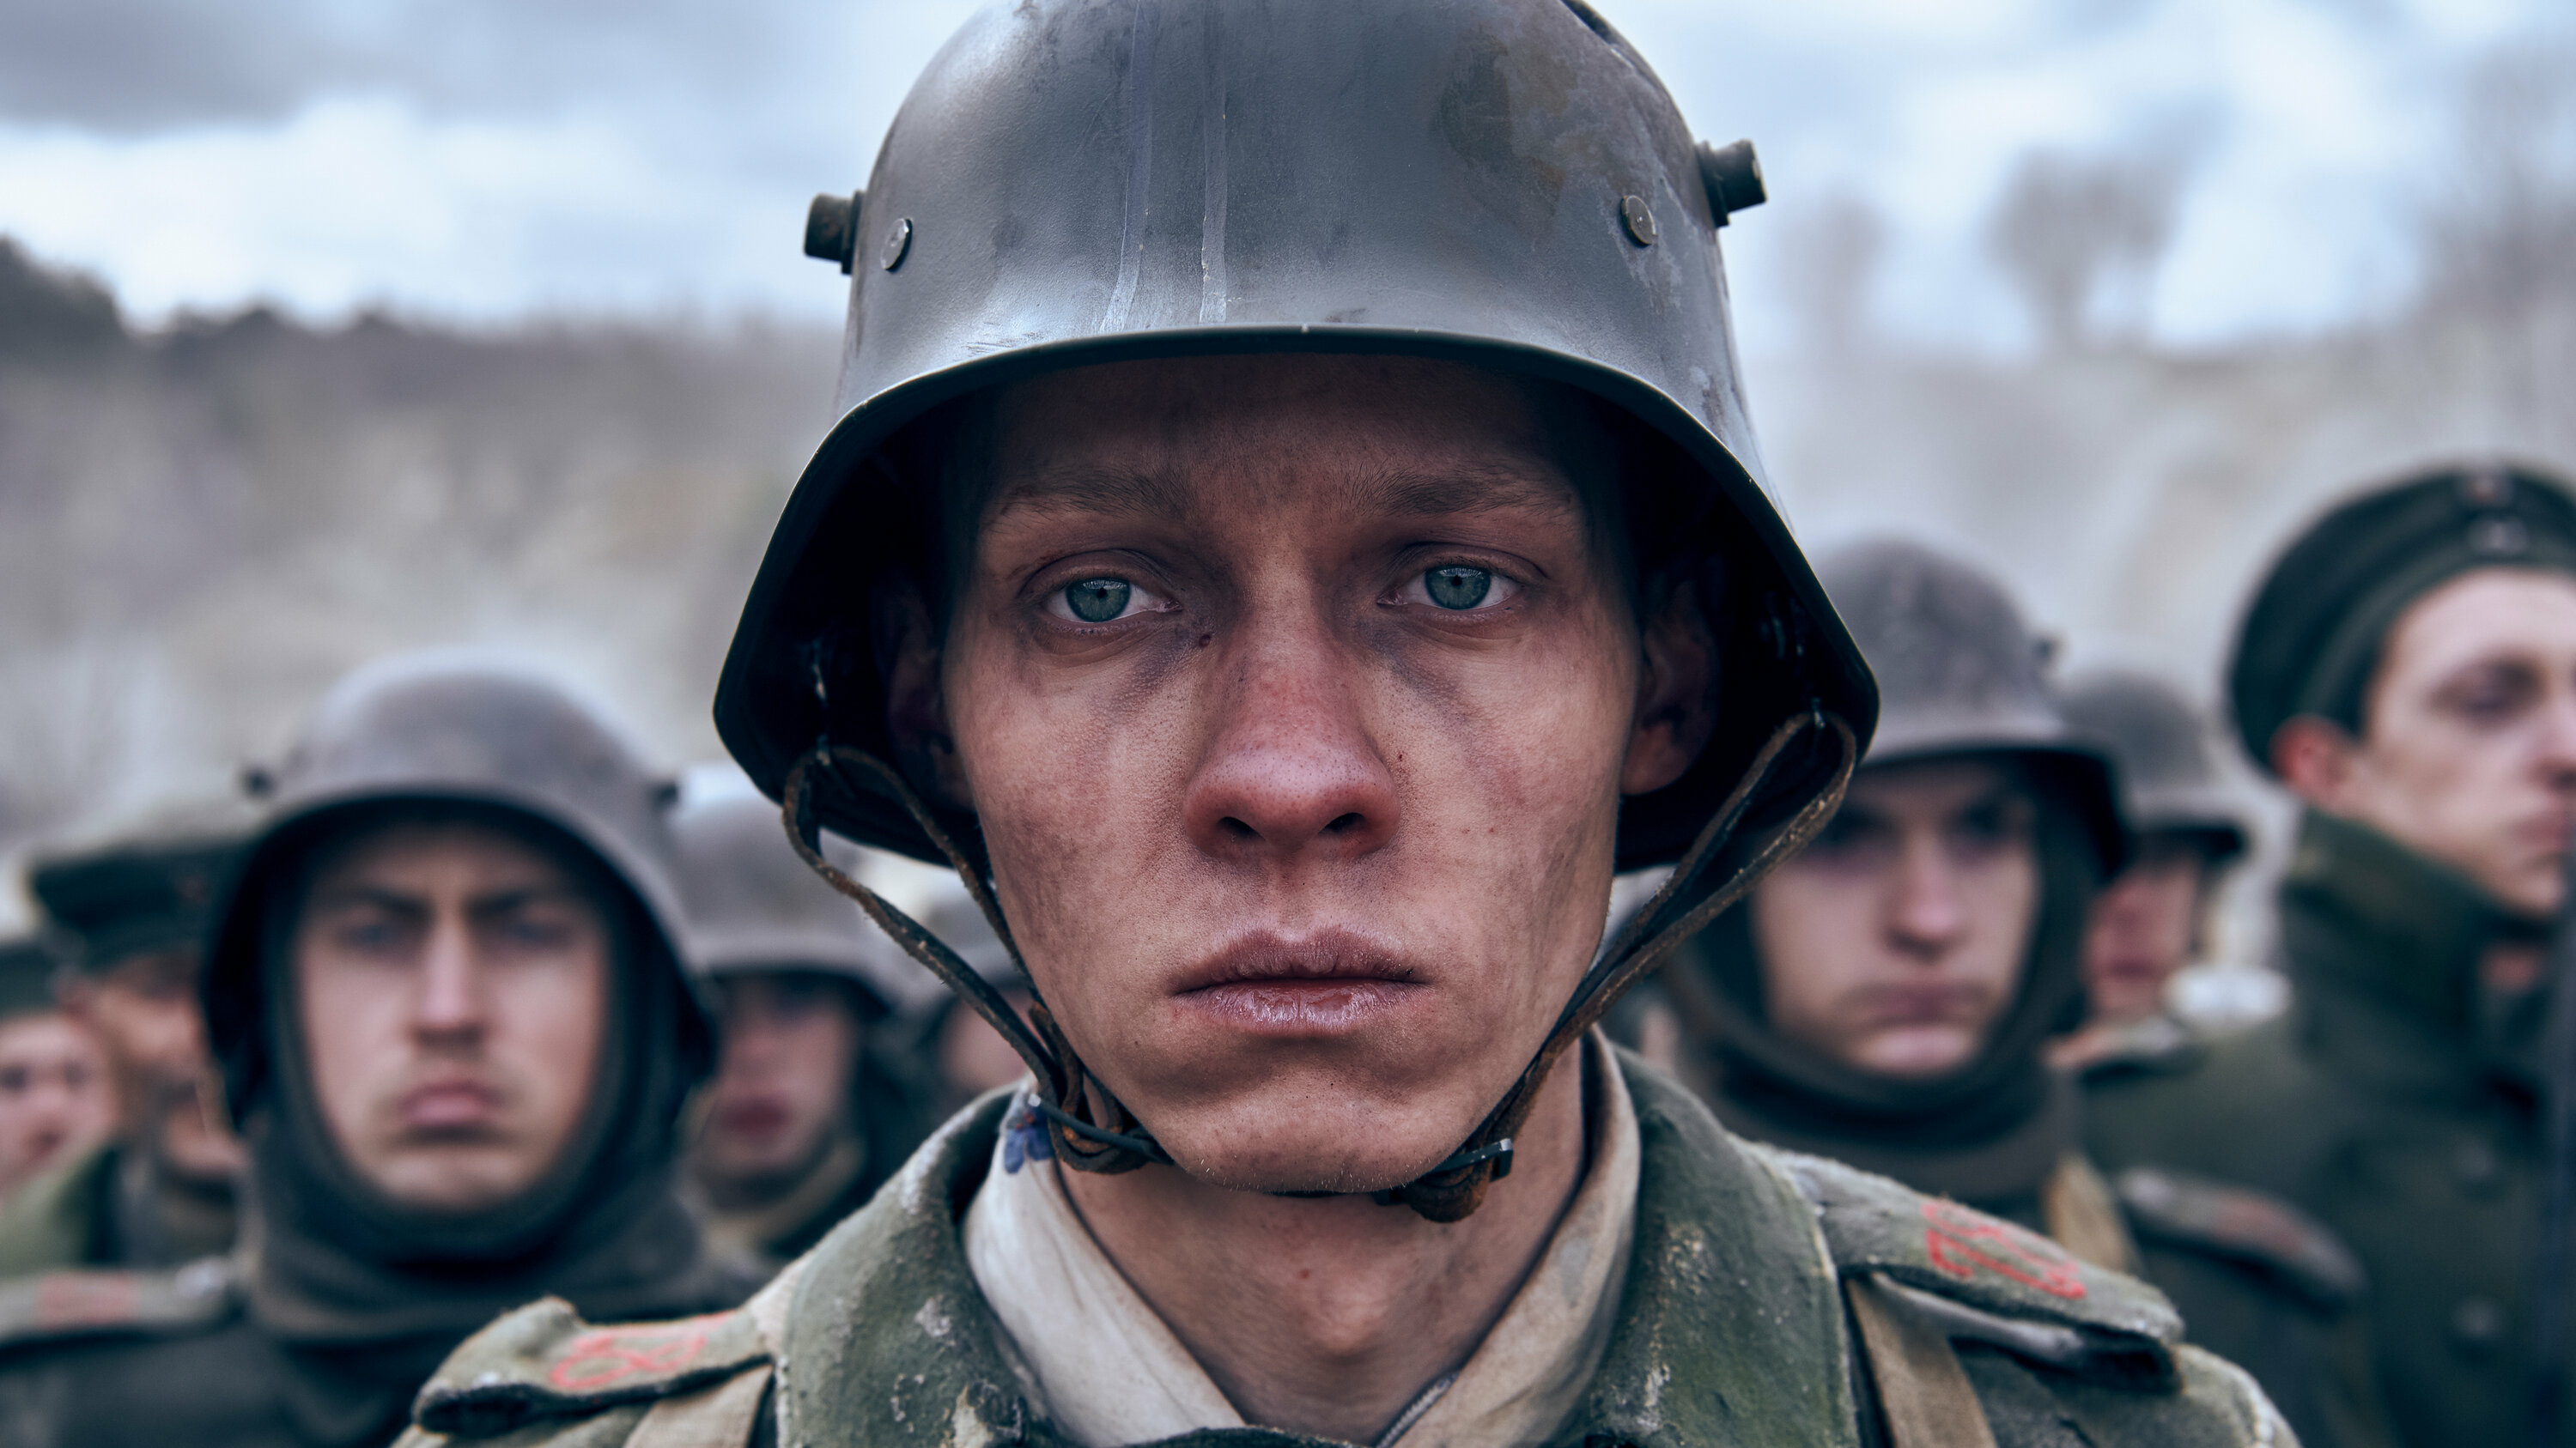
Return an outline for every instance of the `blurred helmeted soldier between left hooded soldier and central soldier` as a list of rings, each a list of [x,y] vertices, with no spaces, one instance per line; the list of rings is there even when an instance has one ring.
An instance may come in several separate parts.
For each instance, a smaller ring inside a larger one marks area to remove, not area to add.
[[[711,1242],[786,1262],[866,1206],[935,1123],[896,1041],[873,1038],[894,946],[796,858],[775,804],[708,799],[672,830],[688,964],[716,1015],[688,1180]]]

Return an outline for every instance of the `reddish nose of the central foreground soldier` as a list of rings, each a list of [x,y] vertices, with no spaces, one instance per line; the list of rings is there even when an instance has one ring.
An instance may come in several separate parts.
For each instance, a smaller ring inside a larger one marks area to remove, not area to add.
[[[1200,853],[1224,861],[1355,861],[1401,814],[1363,711],[1365,665],[1314,618],[1234,647],[1182,799]]]

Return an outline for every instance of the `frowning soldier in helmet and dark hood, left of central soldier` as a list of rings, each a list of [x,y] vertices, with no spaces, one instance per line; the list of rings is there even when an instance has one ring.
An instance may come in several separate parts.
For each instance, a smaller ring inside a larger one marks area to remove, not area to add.
[[[415,657],[343,680],[211,933],[245,1250],[0,1296],[0,1440],[358,1448],[507,1306],[739,1301],[672,1188],[708,1038],[667,801],[544,678]]]

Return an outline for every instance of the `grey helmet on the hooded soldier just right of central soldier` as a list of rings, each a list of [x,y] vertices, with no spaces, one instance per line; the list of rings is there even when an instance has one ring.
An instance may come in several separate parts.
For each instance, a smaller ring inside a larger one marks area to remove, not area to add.
[[[2105,873],[2128,830],[2102,745],[2079,737],[2048,683],[2050,644],[1999,582],[1932,549],[1880,541],[1819,567],[1878,675],[1862,768],[1937,755],[2014,755],[2076,809]]]

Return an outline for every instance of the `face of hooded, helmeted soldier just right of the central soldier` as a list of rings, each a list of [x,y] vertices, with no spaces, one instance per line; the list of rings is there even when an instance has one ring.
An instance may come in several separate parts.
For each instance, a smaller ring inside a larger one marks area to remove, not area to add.
[[[1772,1031],[1883,1077],[1940,1077],[1986,1043],[2040,910],[2038,804],[1989,760],[1860,770],[1752,899]]]

